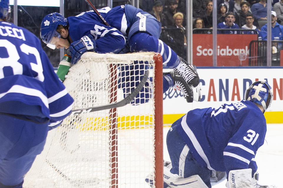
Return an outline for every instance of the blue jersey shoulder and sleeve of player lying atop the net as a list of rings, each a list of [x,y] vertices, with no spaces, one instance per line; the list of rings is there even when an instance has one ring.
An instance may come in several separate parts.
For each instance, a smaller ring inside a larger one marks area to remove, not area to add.
[[[73,42],[91,34],[96,42],[97,53],[118,53],[125,47],[124,35],[116,28],[104,25],[94,11],[82,12],[68,17],[67,20]]]

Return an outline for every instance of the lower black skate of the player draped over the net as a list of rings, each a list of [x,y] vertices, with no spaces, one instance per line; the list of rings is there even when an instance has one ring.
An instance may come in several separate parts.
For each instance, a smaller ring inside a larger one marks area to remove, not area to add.
[[[163,75],[170,74],[174,80],[175,89],[181,91],[188,103],[192,103],[194,99],[194,94],[192,88],[187,84],[187,82],[177,73],[177,71],[172,70]]]

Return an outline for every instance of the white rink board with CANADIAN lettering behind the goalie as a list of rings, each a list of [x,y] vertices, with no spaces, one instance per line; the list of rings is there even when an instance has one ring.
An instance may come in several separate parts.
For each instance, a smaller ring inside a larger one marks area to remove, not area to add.
[[[198,73],[201,101],[187,103],[179,91],[171,88],[163,94],[164,120],[166,120],[166,114],[171,114],[168,117],[172,117],[172,114],[185,114],[195,108],[219,108],[224,103],[239,102],[251,83],[257,80],[267,80],[272,87],[274,98],[265,115],[270,114],[272,120],[283,122],[283,68],[199,67]]]

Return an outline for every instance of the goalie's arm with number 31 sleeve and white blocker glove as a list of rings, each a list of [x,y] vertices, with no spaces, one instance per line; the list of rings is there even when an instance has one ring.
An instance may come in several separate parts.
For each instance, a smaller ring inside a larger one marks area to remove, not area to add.
[[[233,134],[223,152],[228,177],[226,186],[233,187],[233,184],[237,184],[236,187],[268,187],[257,183],[257,165],[254,160],[256,151],[264,143],[265,119],[256,112],[246,113],[242,125]]]

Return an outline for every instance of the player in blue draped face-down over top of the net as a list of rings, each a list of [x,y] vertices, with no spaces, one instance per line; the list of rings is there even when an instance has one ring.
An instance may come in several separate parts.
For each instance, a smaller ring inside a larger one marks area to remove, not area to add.
[[[64,18],[59,13],[45,16],[41,24],[41,38],[47,46],[55,48],[69,48],[71,63],[75,64],[86,51],[96,53],[127,53],[153,51],[162,55],[163,66],[173,68],[173,71],[164,73],[163,92],[175,86],[181,90],[187,102],[192,102],[194,97],[199,101],[199,77],[194,67],[189,65],[165,43],[159,40],[161,23],[152,15],[126,4],[116,6],[113,9],[105,7],[98,12],[108,22],[110,27],[105,26],[103,21],[94,11],[83,12],[78,16]],[[124,38],[126,36],[126,39]],[[128,66],[126,71],[127,85],[118,87],[124,91],[124,97],[139,84],[139,64]],[[124,76],[124,75],[123,75]],[[63,78],[64,79],[64,78]],[[124,83],[124,80],[123,80]],[[129,87],[129,85],[130,87]],[[130,88],[126,90],[126,88]],[[150,98],[148,83],[146,83],[139,95],[145,96],[144,101],[133,103],[145,103]],[[193,91],[198,91],[193,97]],[[138,100],[139,97],[136,97]]]

